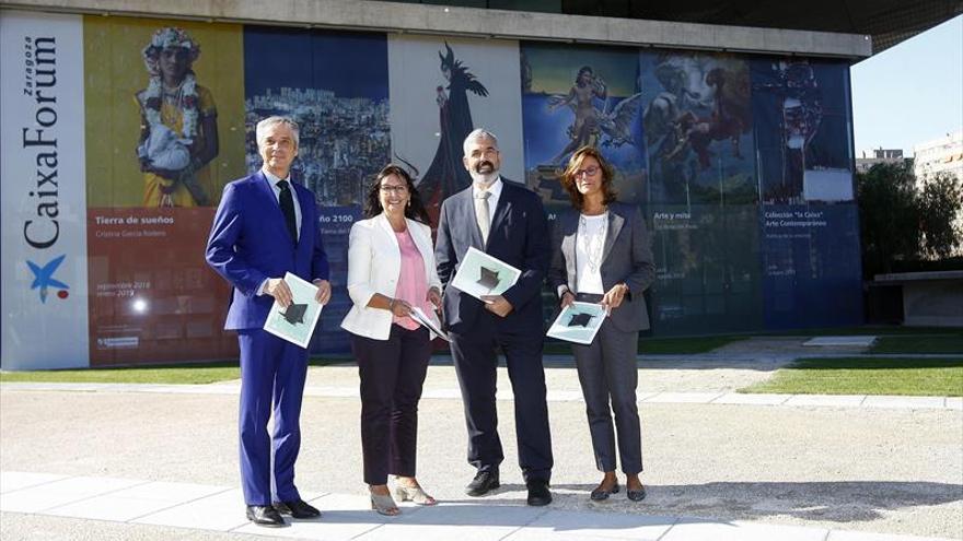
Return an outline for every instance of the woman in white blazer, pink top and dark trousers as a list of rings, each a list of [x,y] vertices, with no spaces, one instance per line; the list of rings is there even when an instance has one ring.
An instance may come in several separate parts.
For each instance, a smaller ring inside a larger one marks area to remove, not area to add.
[[[427,328],[415,308],[438,325],[441,281],[434,268],[430,219],[411,178],[388,164],[368,193],[366,220],[351,226],[348,242],[348,294],[355,306],[341,327],[361,376],[361,448],[371,508],[399,513],[394,496],[434,505],[415,478],[418,400],[431,357]]]

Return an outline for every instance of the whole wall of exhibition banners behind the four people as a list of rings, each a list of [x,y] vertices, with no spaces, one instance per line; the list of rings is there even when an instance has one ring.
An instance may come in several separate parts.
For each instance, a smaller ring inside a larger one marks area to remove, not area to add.
[[[475,128],[549,219],[569,156],[601,150],[649,225],[653,334],[861,322],[843,62],[2,15],[4,369],[236,358],[204,249],[270,115],[301,126],[293,178],[332,262],[312,353],[349,350],[348,236],[374,174],[407,167],[437,216],[471,184]]]

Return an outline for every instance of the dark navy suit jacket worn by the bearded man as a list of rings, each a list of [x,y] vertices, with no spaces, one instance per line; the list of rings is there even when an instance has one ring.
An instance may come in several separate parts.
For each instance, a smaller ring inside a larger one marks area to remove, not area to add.
[[[454,332],[466,333],[479,313],[484,311],[480,301],[448,286],[468,247],[474,246],[522,271],[519,281],[502,293],[511,303],[512,311],[504,318],[498,318],[498,329],[535,333],[541,339],[542,283],[548,268],[545,210],[536,193],[504,179],[502,185],[487,245],[481,242],[481,232],[475,220],[471,186],[441,204],[434,260],[441,283],[445,284],[445,326]]]

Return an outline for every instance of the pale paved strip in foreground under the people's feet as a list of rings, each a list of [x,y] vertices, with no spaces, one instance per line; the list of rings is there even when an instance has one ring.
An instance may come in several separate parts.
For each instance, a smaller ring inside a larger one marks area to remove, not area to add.
[[[799,540],[919,541],[915,536],[880,536],[825,528],[721,521],[692,517],[558,510],[518,505],[442,502],[434,507],[402,504],[397,517],[367,509],[362,495],[304,493],[322,517],[289,520],[285,528],[251,525],[236,487],[147,480],[0,472],[0,513],[120,522],[200,532],[326,541],[394,539],[472,541],[683,541]],[[10,517],[7,517],[8,519]],[[8,526],[3,539],[28,539],[23,524]],[[3,522],[0,522],[3,524]],[[45,531],[44,533],[47,533]],[[16,537],[13,537],[16,536]]]

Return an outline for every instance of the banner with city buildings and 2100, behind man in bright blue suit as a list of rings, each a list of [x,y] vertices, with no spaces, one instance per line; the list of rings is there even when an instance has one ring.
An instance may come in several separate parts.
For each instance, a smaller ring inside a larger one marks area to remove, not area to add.
[[[339,325],[351,307],[344,283],[348,233],[361,217],[370,180],[391,158],[387,40],[384,34],[245,26],[244,89],[248,170],[262,165],[258,120],[285,115],[300,126],[291,174],[320,205],[333,286],[310,350],[347,351]]]

